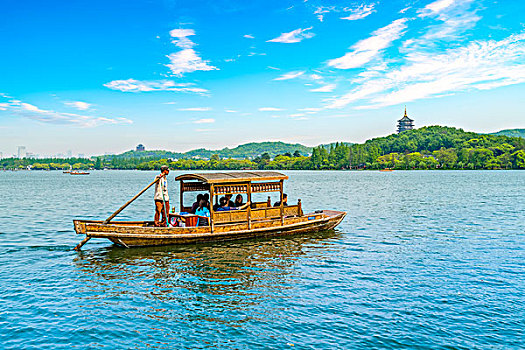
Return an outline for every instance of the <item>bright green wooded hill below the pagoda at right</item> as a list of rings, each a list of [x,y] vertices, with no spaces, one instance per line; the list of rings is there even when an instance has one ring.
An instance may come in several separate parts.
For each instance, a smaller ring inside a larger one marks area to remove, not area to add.
[[[429,126],[353,145],[353,167],[509,169],[525,167],[525,139]],[[316,153],[313,150],[312,158]],[[344,163],[341,163],[344,164]],[[339,164],[338,164],[339,165]]]

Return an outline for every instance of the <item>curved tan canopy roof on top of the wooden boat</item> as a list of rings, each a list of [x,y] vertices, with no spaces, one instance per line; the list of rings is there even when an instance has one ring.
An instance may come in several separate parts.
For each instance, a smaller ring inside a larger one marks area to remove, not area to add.
[[[287,179],[288,176],[276,171],[236,171],[227,173],[183,174],[175,178],[177,181],[197,180],[207,184],[277,181]]]

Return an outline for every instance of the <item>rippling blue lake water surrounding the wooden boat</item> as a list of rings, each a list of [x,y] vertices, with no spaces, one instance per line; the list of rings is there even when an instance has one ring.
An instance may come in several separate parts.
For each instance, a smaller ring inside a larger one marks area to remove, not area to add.
[[[525,171],[286,173],[335,231],[74,252],[156,173],[0,172],[0,348],[523,348]]]

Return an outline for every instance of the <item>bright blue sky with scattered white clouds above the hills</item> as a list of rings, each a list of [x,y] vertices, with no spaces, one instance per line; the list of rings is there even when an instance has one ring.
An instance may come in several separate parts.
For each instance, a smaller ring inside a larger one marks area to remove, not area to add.
[[[15,1],[0,152],[362,142],[525,127],[525,2]]]

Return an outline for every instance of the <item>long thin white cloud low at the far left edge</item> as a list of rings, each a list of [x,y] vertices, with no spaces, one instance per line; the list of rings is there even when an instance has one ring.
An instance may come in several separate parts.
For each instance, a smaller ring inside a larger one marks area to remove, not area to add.
[[[49,124],[73,125],[78,127],[96,127],[104,124],[133,123],[133,121],[131,121],[130,119],[122,117],[108,118],[41,109],[35,105],[14,99],[3,104],[2,108],[4,110],[11,111],[13,114]]]

